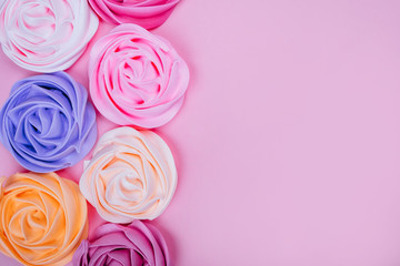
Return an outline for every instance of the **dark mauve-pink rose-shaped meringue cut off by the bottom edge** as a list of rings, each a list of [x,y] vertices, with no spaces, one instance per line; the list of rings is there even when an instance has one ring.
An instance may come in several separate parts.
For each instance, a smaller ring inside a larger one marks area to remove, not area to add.
[[[168,247],[151,224],[134,221],[128,226],[103,224],[90,241],[83,241],[72,259],[73,266],[168,266]]]

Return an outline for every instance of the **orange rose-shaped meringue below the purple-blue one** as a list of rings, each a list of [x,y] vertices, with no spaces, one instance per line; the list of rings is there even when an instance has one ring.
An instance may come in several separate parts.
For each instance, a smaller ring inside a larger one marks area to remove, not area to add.
[[[64,265],[88,235],[79,187],[54,173],[1,181],[0,250],[24,265]]]

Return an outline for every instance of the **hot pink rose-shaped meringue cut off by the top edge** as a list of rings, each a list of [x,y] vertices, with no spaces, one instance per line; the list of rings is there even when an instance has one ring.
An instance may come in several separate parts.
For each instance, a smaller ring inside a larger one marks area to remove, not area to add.
[[[136,23],[146,29],[161,25],[179,0],[89,0],[93,10],[111,23]]]

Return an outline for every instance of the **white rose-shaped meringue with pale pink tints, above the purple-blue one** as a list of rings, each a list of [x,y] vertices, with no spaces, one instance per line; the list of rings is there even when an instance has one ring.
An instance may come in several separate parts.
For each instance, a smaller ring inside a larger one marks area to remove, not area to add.
[[[87,0],[6,0],[0,16],[4,53],[21,68],[44,73],[71,66],[99,25]]]

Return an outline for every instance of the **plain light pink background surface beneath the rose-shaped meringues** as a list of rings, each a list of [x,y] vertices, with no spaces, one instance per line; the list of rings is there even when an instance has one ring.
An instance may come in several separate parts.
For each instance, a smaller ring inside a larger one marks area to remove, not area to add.
[[[157,130],[180,174],[154,221],[177,266],[400,265],[400,1],[183,0],[153,32],[191,69]],[[87,59],[68,71],[84,85]],[[32,73],[0,61],[2,104]]]

